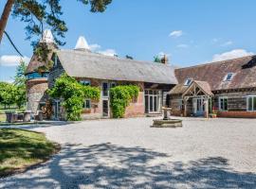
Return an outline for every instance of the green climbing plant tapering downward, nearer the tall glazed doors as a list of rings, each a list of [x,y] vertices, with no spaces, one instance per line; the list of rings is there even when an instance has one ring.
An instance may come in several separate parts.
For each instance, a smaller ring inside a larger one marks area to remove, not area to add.
[[[124,116],[125,108],[137,98],[138,92],[136,85],[119,85],[110,89],[110,106],[114,118]]]

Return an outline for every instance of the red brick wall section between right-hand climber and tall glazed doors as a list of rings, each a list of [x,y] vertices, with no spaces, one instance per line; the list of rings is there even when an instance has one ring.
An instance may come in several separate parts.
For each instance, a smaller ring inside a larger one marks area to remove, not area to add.
[[[139,92],[137,101],[130,103],[130,105],[126,108],[125,117],[142,116],[144,112],[144,94],[143,92]]]

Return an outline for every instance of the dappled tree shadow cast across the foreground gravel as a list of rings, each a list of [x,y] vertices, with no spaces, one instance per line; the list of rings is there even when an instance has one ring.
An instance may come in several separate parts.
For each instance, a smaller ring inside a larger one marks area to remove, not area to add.
[[[142,147],[65,145],[33,174],[0,183],[4,188],[256,188],[255,174],[232,170],[222,157],[186,164],[170,158]]]

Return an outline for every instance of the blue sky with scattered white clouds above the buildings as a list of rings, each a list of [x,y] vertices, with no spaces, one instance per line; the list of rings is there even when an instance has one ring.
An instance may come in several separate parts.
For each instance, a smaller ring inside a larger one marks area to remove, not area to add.
[[[5,2],[0,1],[0,13]],[[61,5],[68,27],[61,48],[73,49],[84,36],[102,54],[150,61],[166,54],[179,67],[256,52],[255,0],[113,0],[103,13],[92,13],[77,1],[61,0]],[[28,61],[32,47],[25,26],[10,16],[6,30]],[[13,79],[19,60],[4,37],[0,80]]]

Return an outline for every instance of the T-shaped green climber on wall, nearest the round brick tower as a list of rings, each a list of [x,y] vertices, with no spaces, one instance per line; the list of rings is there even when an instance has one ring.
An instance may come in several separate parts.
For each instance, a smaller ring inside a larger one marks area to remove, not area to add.
[[[66,112],[66,119],[69,121],[81,120],[84,98],[99,100],[101,96],[100,88],[83,86],[74,77],[68,77],[66,74],[57,78],[54,87],[47,93],[52,98],[64,99],[62,105]]]

